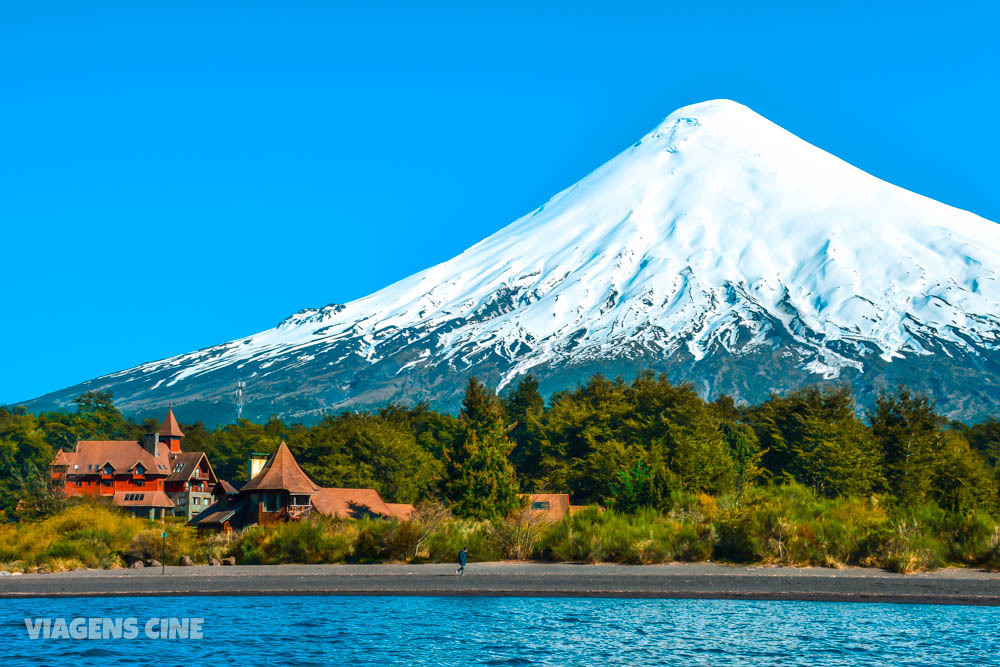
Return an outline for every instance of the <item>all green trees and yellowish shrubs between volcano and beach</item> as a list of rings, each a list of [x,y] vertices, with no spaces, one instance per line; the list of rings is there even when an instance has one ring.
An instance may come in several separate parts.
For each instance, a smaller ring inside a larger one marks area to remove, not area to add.
[[[546,402],[528,376],[502,398],[471,379],[458,417],[393,405],[312,426],[184,424],[185,446],[220,478],[245,480],[249,453],[285,440],[318,484],[417,505],[407,521],[314,516],[232,535],[53,493],[58,449],[155,427],[110,394],[77,406],[0,408],[0,570],[150,564],[161,531],[169,565],[450,563],[467,546],[470,561],[1000,569],[1000,423],[949,421],[905,388],[862,414],[847,387],[738,406],[646,373],[595,376]],[[528,492],[591,507],[546,523],[523,508]]]

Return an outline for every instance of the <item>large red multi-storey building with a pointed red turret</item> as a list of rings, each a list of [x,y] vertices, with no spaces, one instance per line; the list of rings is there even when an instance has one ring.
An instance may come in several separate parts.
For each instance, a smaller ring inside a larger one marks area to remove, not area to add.
[[[191,518],[214,502],[219,484],[204,452],[181,449],[183,438],[170,408],[159,431],[142,440],[81,440],[72,451],[56,452],[52,486],[136,516]]]

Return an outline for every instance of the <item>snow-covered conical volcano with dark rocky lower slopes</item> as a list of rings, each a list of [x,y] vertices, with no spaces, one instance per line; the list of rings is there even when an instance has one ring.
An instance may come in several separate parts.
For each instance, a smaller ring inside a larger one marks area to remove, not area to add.
[[[450,407],[471,374],[555,390],[648,367],[748,400],[903,381],[982,412],[1000,403],[998,267],[996,224],[715,100],[447,262],[36,402],[103,388],[132,410],[231,410],[243,379],[262,413]]]

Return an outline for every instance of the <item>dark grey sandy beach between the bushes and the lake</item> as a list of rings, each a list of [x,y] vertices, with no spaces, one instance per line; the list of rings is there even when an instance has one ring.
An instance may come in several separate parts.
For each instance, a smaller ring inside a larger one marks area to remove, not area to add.
[[[87,570],[0,577],[0,598],[140,595],[489,595],[1000,605],[1000,574],[900,575],[717,564],[275,565]]]

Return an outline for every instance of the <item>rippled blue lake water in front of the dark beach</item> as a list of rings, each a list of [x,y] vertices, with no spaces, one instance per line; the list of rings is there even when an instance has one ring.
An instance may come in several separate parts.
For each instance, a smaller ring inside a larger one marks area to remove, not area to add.
[[[201,639],[29,639],[24,619],[204,618]],[[476,597],[0,600],[0,665],[1000,663],[1000,608]]]

